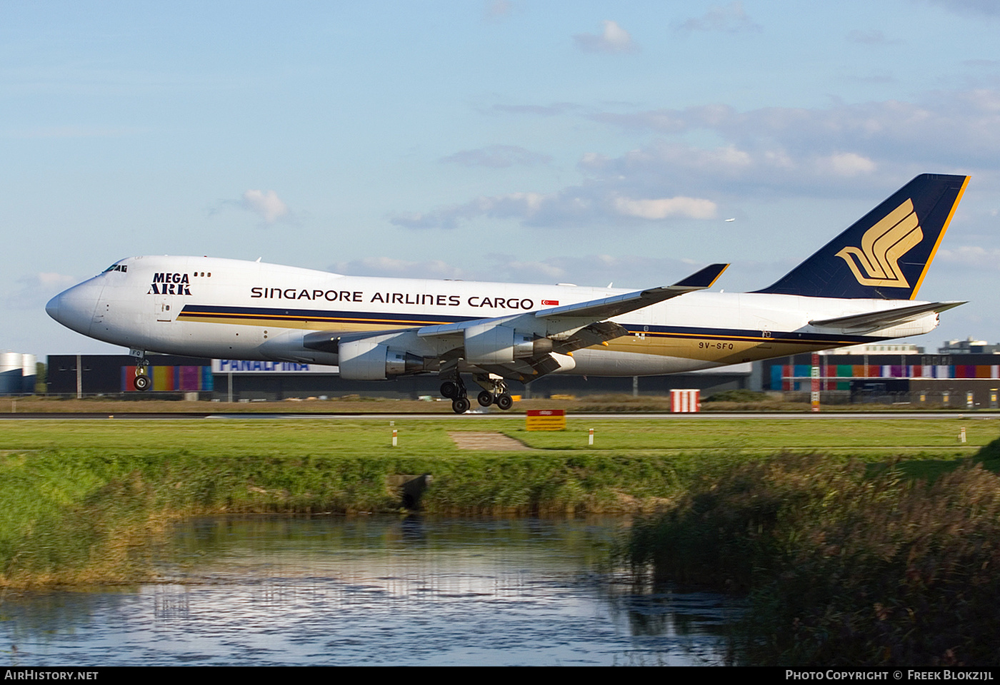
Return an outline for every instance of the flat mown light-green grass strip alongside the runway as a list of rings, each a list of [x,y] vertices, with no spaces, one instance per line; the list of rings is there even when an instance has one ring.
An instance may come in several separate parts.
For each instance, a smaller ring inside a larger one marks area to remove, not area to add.
[[[392,427],[405,454],[458,453],[449,431],[495,430],[538,449],[595,453],[648,450],[868,450],[877,453],[974,452],[997,436],[998,419],[627,419],[567,421],[564,431],[527,431],[523,418],[485,421],[330,419],[5,420],[0,450],[101,449],[113,453],[382,453]],[[958,441],[965,426],[967,442]],[[594,445],[587,430],[594,428]]]

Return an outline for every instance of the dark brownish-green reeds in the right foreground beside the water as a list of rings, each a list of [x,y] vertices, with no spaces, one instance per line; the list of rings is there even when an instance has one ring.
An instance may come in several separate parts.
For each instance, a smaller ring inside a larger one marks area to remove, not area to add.
[[[658,580],[749,593],[744,663],[993,667],[1000,439],[978,458],[932,479],[816,455],[731,464],[637,522],[626,556]]]

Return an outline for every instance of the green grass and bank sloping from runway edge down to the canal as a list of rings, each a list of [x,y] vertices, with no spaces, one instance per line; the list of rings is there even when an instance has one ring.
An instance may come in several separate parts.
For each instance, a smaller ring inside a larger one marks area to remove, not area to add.
[[[996,434],[995,421],[570,420],[525,432],[521,419],[7,420],[0,432],[0,583],[124,582],[179,516],[213,512],[398,510],[394,474],[431,472],[428,512],[651,511],[706,474],[781,449],[945,469]],[[959,425],[969,442],[957,444]],[[587,428],[596,444],[587,446]],[[449,431],[501,430],[532,451],[458,449]]]

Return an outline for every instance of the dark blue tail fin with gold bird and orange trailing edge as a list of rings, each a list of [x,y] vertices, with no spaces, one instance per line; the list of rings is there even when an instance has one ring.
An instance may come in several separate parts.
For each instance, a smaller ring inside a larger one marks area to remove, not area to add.
[[[913,300],[968,176],[921,174],[819,252],[758,293]]]

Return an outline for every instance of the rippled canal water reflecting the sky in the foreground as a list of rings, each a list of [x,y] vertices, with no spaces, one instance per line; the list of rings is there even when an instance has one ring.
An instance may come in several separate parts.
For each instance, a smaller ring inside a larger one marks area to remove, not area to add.
[[[716,665],[731,600],[607,566],[622,519],[213,517],[162,582],[7,597],[10,665]]]

